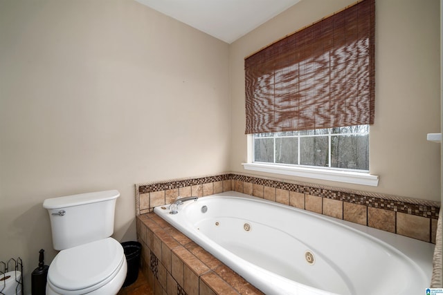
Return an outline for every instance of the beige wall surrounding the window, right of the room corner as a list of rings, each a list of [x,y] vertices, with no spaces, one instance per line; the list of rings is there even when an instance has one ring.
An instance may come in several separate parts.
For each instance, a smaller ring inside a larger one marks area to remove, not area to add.
[[[354,0],[303,0],[230,46],[233,171],[244,171],[244,57]],[[336,187],[440,201],[440,3],[376,1],[376,112],[370,128],[370,173],[378,187],[289,178]]]

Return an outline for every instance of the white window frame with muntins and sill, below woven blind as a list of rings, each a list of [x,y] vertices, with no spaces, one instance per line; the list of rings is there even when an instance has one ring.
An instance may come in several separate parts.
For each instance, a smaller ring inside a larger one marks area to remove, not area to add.
[[[343,133],[343,135],[347,135],[349,133]],[[305,136],[305,135],[300,135]],[[316,136],[316,135],[306,135],[308,137]],[[320,136],[329,136],[329,149],[331,144],[331,137],[336,136],[336,134],[331,134],[329,132],[328,135],[320,135]],[[299,137],[300,138],[300,137]],[[379,176],[372,175],[369,171],[355,171],[351,169],[343,170],[336,169],[332,167],[316,167],[316,166],[302,166],[302,165],[293,165],[293,164],[274,164],[274,163],[266,163],[266,162],[253,162],[254,155],[254,139],[253,135],[248,135],[248,161],[246,163],[242,163],[244,169],[251,171],[259,171],[266,173],[274,173],[274,174],[282,174],[282,175],[291,175],[302,178],[312,178],[316,180],[329,180],[334,182],[345,182],[350,184],[361,184],[367,185],[371,187],[377,187],[379,184]],[[300,144],[300,140],[298,141]],[[274,149],[275,153],[275,149]],[[300,153],[298,155],[300,157]],[[275,155],[274,155],[275,159]],[[300,162],[300,161],[298,161]],[[329,166],[330,166],[330,153],[329,153]]]

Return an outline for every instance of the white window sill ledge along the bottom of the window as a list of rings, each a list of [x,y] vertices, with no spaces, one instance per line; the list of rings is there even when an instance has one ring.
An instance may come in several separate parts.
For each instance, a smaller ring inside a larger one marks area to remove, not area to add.
[[[242,163],[242,165],[246,170],[299,176],[302,178],[315,178],[320,180],[347,182],[352,184],[368,185],[371,187],[377,187],[379,184],[379,176],[371,175],[369,173],[262,163]]]

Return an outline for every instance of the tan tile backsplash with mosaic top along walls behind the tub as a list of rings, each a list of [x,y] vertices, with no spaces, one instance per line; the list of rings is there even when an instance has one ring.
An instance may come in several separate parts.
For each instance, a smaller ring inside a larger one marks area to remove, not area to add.
[[[203,178],[136,184],[136,215],[178,196],[238,191],[334,218],[435,243],[440,203],[316,184],[224,173]]]

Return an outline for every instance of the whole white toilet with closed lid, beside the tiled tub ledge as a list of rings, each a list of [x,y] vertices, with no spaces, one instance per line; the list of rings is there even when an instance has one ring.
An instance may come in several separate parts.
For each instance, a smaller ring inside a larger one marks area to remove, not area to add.
[[[46,199],[53,247],[46,294],[117,294],[125,282],[123,247],[111,238],[116,190]]]

